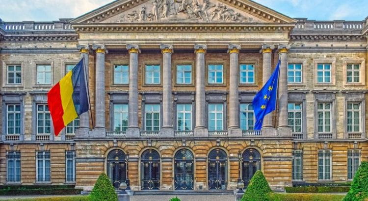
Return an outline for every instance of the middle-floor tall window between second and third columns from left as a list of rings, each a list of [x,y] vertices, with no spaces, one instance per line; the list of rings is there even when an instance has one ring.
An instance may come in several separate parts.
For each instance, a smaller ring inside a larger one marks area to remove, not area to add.
[[[128,104],[114,104],[114,131],[128,129]]]

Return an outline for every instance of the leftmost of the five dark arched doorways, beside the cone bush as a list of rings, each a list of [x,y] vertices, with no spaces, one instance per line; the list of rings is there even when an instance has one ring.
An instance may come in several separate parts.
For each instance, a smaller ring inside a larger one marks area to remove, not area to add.
[[[127,161],[125,153],[121,150],[112,150],[107,155],[107,176],[115,189],[127,179]]]

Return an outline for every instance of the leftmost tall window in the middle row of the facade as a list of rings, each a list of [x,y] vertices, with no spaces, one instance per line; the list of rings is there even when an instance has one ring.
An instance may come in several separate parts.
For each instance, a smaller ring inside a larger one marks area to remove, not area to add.
[[[6,105],[7,134],[21,134],[21,105]]]

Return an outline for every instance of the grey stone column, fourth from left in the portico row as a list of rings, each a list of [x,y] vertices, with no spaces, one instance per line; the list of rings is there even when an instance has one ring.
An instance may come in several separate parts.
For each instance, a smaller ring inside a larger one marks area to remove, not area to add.
[[[171,76],[171,54],[173,44],[160,44],[163,56],[162,72],[162,128],[160,136],[174,136],[173,129],[173,98],[172,98],[172,76]]]

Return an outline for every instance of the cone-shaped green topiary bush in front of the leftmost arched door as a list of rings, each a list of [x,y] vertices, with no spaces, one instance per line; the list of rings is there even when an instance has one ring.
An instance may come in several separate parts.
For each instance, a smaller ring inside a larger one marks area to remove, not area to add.
[[[110,179],[105,173],[102,173],[97,179],[91,194],[90,201],[118,201],[118,196],[111,184]]]

